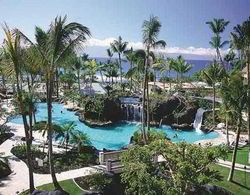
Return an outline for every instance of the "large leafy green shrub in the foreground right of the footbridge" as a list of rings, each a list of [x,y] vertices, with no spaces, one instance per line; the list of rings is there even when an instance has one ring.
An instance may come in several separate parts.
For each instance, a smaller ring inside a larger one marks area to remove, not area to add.
[[[220,179],[211,164],[224,157],[224,147],[157,140],[136,145],[122,155],[122,182],[127,194],[202,194],[204,185]],[[155,157],[161,156],[158,162]]]

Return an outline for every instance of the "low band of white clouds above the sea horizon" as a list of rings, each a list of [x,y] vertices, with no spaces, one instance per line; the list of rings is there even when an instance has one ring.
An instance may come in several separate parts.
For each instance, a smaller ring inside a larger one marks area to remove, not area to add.
[[[112,43],[115,38],[110,37],[106,39],[96,39],[91,38],[87,42],[88,47],[109,47],[110,43]],[[134,49],[142,49],[143,44],[142,42],[129,42],[128,48],[133,47]],[[197,55],[197,56],[207,56],[207,57],[214,57],[216,52],[212,48],[203,48],[203,47],[166,47],[164,49],[156,49],[156,52],[162,54],[183,54],[183,55]],[[227,50],[221,51],[222,55],[227,53]]]

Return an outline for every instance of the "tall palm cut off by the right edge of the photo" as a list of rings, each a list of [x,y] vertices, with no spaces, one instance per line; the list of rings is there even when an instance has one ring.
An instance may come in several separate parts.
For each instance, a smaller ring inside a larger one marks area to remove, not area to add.
[[[250,86],[250,17],[241,25],[234,27],[231,38],[233,48],[240,52],[240,59],[243,64],[246,64],[247,84]],[[250,102],[247,104],[247,116],[248,143],[250,143]]]

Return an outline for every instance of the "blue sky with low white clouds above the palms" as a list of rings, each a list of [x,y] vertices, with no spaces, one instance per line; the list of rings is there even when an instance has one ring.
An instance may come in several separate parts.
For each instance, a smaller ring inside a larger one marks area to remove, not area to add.
[[[118,36],[129,46],[142,48],[142,23],[154,15],[162,24],[159,39],[167,43],[162,53],[210,59],[214,50],[209,45],[212,33],[206,21],[229,20],[222,35],[228,40],[233,27],[250,16],[250,0],[0,0],[0,24],[17,27],[31,39],[35,26],[48,29],[59,15],[90,29],[92,37],[84,52],[91,57],[106,57],[106,49]],[[0,29],[0,44],[3,38]]]

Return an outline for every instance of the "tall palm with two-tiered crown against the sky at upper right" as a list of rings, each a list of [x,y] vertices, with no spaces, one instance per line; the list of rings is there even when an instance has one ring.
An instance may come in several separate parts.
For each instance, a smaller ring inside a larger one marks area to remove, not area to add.
[[[225,46],[228,43],[228,41],[224,41],[221,43],[220,34],[224,32],[226,26],[229,24],[229,21],[226,21],[224,19],[214,18],[213,21],[206,22],[206,24],[209,25],[209,28],[214,33],[214,36],[212,37],[212,39],[209,43],[213,48],[216,49],[217,60],[220,60],[220,62],[222,64],[223,60],[222,60],[222,57],[220,54],[220,48]]]

